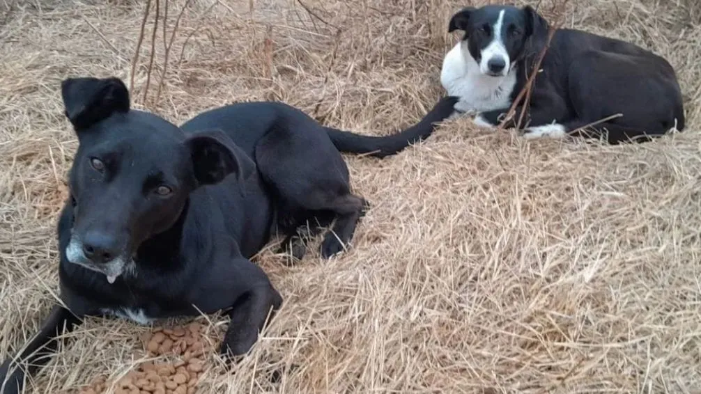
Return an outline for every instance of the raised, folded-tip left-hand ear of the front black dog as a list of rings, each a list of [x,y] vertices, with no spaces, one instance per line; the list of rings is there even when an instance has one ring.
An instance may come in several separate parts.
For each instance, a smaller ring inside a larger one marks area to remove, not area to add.
[[[64,114],[76,131],[87,129],[116,112],[129,111],[129,91],[121,79],[67,78],[61,83]]]

